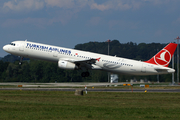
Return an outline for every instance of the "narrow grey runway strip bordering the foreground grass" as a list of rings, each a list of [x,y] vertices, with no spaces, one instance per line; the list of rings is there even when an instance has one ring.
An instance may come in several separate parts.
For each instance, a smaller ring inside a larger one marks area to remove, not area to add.
[[[0,88],[0,90],[21,90],[21,91],[75,91],[83,90],[83,88]],[[180,89],[118,89],[118,88],[96,88],[87,89],[89,92],[180,92]]]

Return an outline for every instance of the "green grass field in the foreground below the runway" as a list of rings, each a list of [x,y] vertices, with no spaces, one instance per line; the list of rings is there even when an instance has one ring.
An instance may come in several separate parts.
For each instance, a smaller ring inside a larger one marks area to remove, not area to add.
[[[0,91],[0,120],[180,119],[180,93]]]

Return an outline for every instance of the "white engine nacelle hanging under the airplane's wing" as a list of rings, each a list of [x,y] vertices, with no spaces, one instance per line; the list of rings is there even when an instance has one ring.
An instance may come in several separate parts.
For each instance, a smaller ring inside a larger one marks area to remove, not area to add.
[[[74,63],[64,60],[58,61],[58,67],[66,70],[75,70],[77,68],[77,66]]]

